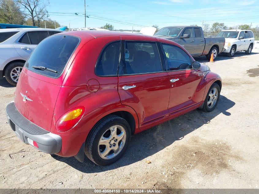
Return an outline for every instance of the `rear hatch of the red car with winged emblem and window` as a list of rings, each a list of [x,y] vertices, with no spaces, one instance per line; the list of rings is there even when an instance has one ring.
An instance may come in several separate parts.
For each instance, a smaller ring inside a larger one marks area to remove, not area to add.
[[[78,37],[68,35],[44,39],[29,57],[19,78],[15,107],[25,118],[47,131],[51,130],[63,71],[79,42]]]

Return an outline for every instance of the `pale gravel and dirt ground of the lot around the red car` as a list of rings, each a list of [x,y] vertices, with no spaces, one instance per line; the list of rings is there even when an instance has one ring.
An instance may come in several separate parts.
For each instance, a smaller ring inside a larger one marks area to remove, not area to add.
[[[258,59],[259,49],[220,54],[208,63],[223,79],[213,112],[194,110],[134,135],[105,167],[22,143],[5,115],[15,87],[0,79],[0,188],[259,188]]]

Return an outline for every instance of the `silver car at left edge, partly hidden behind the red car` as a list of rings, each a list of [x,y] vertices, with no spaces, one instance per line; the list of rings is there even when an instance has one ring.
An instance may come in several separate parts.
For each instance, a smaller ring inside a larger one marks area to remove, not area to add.
[[[25,61],[41,40],[64,32],[56,29],[16,28],[0,30],[0,78],[16,86]]]

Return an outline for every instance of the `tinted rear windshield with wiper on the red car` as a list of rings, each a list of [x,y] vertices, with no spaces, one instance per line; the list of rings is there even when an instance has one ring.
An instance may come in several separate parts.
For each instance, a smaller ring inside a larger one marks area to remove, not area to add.
[[[58,78],[79,42],[80,39],[75,36],[49,36],[32,52],[25,67],[35,73]]]

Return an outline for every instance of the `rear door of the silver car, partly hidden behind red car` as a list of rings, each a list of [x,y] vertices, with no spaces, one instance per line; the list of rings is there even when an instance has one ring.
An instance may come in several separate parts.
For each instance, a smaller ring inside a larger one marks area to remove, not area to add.
[[[13,45],[18,54],[27,60],[36,46],[48,36],[48,31],[26,32]]]

